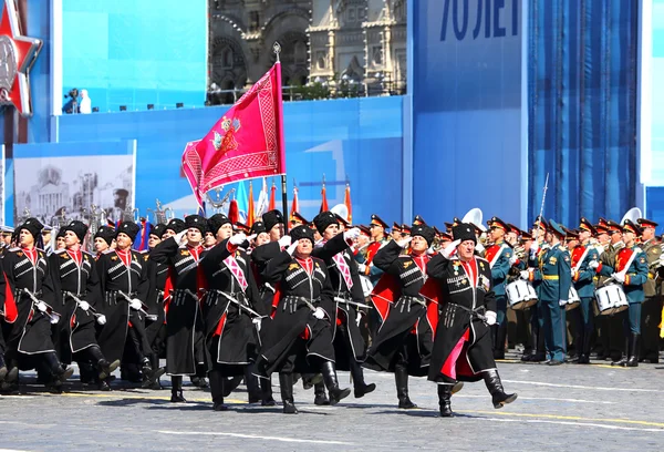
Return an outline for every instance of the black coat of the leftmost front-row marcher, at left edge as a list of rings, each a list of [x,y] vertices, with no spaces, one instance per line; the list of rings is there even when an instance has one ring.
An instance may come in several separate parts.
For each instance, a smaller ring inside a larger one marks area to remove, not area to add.
[[[55,351],[51,339],[51,319],[40,312],[32,298],[23,291],[28,289],[38,299],[52,307],[55,305],[55,292],[45,251],[38,248],[10,248],[4,251],[2,268],[7,280],[0,278],[0,294],[4,296],[6,284],[9,284],[18,310],[15,321],[8,325],[6,336],[8,353],[13,355],[18,351],[22,355],[37,355]],[[25,366],[24,362],[24,360],[20,361],[19,364],[22,368],[31,367],[31,364]]]

